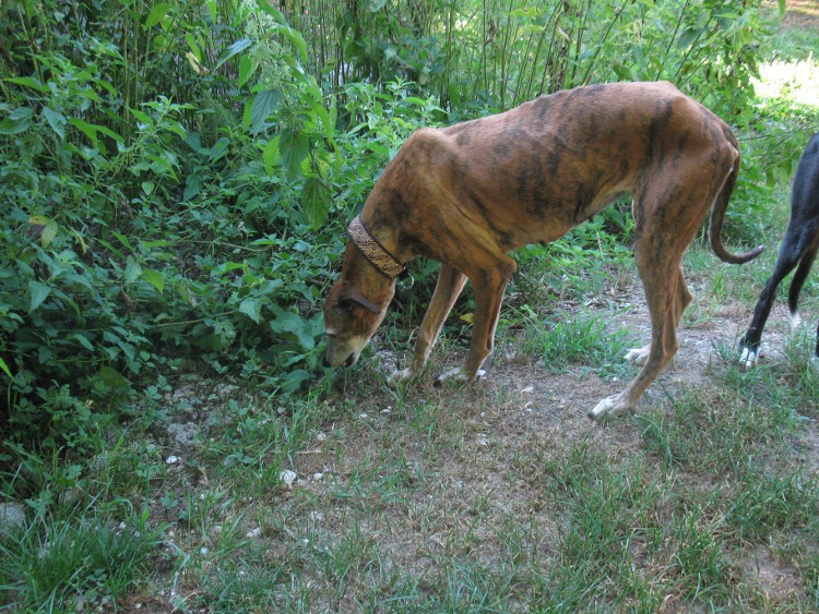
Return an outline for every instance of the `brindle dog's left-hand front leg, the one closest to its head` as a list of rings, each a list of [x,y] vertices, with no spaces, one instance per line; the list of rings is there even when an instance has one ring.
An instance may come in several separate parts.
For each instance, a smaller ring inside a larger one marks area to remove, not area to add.
[[[393,373],[393,381],[405,381],[420,374],[424,365],[427,363],[429,352],[432,351],[432,347],[438,340],[443,323],[449,312],[452,311],[452,305],[455,304],[458,297],[461,296],[465,284],[466,276],[463,273],[460,273],[448,264],[441,263],[438,282],[436,284],[432,299],[429,302],[427,313],[424,315],[424,321],[420,324],[418,337],[415,341],[413,362],[403,371]]]

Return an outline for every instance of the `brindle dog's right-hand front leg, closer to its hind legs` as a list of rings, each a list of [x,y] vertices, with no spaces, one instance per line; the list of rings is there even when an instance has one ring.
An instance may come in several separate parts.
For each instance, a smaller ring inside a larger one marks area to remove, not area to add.
[[[470,276],[475,290],[475,317],[472,324],[472,344],[466,362],[460,369],[448,371],[438,377],[437,383],[472,382],[480,371],[486,357],[495,345],[495,329],[498,326],[500,304],[503,301],[509,278],[518,265],[513,260],[501,256],[494,263],[478,268]]]

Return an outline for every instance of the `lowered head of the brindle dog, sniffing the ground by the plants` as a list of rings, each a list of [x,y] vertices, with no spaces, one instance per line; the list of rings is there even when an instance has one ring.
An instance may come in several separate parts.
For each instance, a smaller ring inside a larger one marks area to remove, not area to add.
[[[352,282],[342,278],[328,294],[324,304],[327,353],[324,366],[352,366],[387,314],[392,296],[381,303],[371,302]]]

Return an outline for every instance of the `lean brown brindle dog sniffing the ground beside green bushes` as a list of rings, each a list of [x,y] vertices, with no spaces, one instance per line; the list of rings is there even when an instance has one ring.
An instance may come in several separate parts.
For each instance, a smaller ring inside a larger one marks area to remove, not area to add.
[[[470,353],[439,381],[474,380],[492,349],[503,290],[517,268],[507,253],[554,241],[630,193],[651,344],[626,357],[642,364],[634,381],[590,416],[632,411],[679,347],[676,329],[691,302],[680,261],[709,210],[711,249],[722,261],[745,263],[763,249],[734,255],[722,243],[738,167],[731,129],[670,83],[578,87],[505,113],[418,130],[367,198],[364,230],[357,228],[367,244],[347,244],[341,279],[324,306],[325,364],[355,363],[393,297],[393,274],[368,254],[372,248],[399,267],[418,256],[441,263],[415,356],[394,376],[422,372],[470,279]]]

